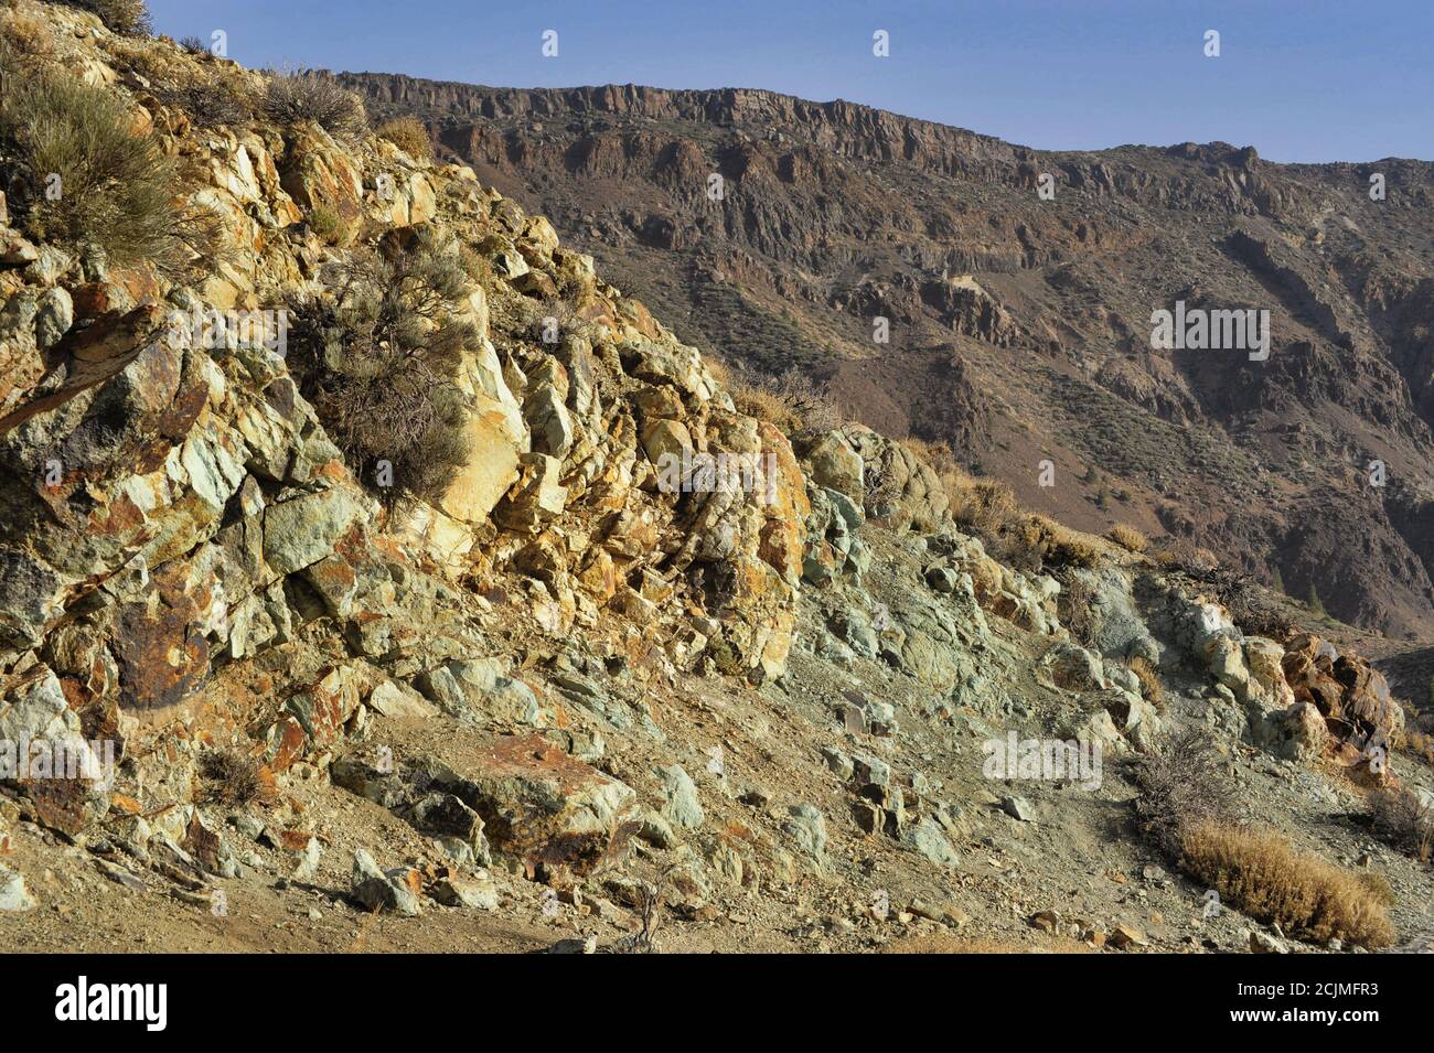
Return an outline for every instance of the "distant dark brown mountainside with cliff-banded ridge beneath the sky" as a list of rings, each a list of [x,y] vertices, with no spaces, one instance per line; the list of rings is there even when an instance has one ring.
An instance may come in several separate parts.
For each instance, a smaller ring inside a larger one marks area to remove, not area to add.
[[[1129,521],[1347,622],[1434,632],[1430,163],[1053,153],[751,90],[343,83],[420,116],[704,352],[797,368],[1083,529]],[[1153,348],[1177,302],[1269,311],[1268,360]]]

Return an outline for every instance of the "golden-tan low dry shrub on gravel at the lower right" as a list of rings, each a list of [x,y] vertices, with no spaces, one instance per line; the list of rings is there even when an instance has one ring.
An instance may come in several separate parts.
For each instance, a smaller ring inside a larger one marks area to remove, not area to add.
[[[1382,890],[1318,855],[1299,852],[1272,831],[1202,822],[1182,840],[1192,877],[1260,921],[1292,936],[1384,947],[1394,927]]]

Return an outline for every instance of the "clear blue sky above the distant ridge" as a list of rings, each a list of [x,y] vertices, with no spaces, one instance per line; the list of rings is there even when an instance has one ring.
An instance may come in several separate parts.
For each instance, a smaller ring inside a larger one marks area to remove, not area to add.
[[[151,0],[251,66],[849,99],[1045,149],[1434,159],[1434,0]],[[541,53],[558,32],[558,57]],[[891,34],[891,57],[872,33]],[[1203,54],[1220,33],[1220,57]]]

